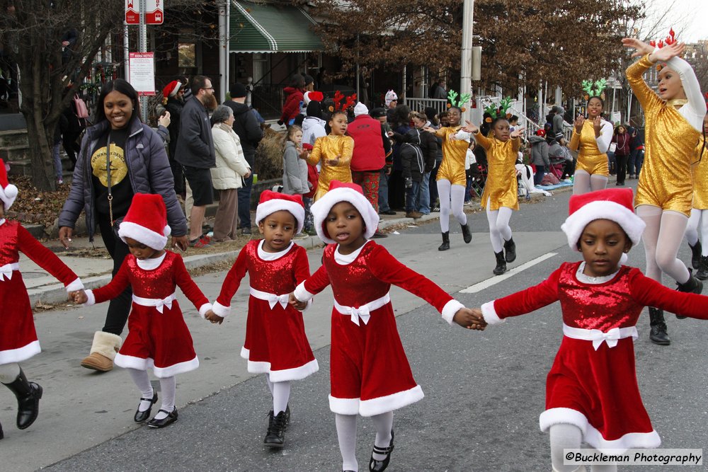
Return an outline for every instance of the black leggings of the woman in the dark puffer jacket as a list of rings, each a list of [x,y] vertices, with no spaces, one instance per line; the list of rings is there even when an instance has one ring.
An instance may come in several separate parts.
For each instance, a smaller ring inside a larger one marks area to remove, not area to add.
[[[96,214],[98,219],[98,229],[101,230],[101,238],[105,244],[105,248],[113,259],[113,277],[118,274],[120,265],[122,265],[125,256],[130,254],[128,246],[120,238],[113,234],[113,228],[110,226],[110,218],[108,215]],[[125,328],[125,322],[130,313],[130,305],[132,304],[132,287],[128,285],[118,297],[111,300],[108,304],[108,311],[105,313],[105,325],[101,331],[119,335]]]

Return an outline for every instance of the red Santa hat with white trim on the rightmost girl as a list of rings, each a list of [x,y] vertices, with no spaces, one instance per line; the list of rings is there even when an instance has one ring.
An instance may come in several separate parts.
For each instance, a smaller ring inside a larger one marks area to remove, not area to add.
[[[583,229],[595,219],[615,221],[624,229],[632,245],[636,246],[644,232],[644,221],[636,216],[632,205],[631,188],[612,188],[573,195],[569,202],[569,217],[561,229],[568,236],[568,245],[578,251],[578,240]]]

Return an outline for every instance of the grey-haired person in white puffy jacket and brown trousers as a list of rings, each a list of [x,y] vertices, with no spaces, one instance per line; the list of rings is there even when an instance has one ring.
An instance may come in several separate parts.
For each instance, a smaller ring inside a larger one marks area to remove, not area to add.
[[[236,224],[239,219],[238,189],[244,185],[244,178],[251,175],[251,168],[241,148],[241,139],[234,132],[234,110],[219,105],[211,120],[217,166],[210,171],[212,184],[219,190],[219,207],[212,241],[222,243],[236,238]]]

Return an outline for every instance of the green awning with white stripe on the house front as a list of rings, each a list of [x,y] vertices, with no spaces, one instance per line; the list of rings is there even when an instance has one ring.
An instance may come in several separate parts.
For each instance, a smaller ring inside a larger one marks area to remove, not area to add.
[[[231,2],[230,52],[310,52],[324,50],[312,31],[316,24],[302,8],[285,4]]]

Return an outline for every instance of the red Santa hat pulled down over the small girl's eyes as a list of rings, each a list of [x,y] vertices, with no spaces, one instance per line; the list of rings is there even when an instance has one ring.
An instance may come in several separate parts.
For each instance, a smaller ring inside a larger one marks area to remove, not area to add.
[[[167,226],[167,209],[161,195],[136,193],[125,218],[120,223],[118,236],[160,251],[165,248],[171,229]]]

